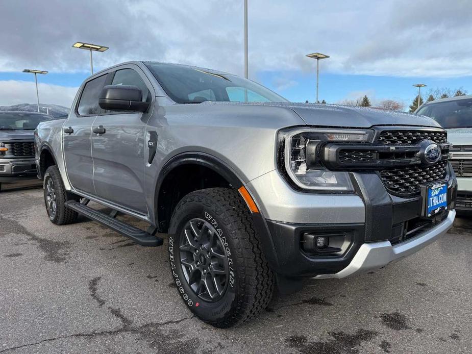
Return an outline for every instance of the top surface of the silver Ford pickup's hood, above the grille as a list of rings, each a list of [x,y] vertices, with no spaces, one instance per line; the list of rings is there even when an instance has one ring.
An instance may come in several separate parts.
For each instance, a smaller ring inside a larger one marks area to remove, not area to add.
[[[235,103],[208,101],[201,105],[281,107],[291,109],[308,125],[318,125],[322,127],[369,128],[372,127],[372,125],[417,125],[420,127],[440,127],[435,120],[425,116],[366,107],[316,105],[309,103]]]

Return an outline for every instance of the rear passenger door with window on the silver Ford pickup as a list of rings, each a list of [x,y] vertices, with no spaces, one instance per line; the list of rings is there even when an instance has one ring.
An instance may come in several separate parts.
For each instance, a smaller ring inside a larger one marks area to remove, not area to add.
[[[63,127],[64,159],[69,182],[73,188],[95,194],[91,149],[92,123],[100,113],[98,96],[107,74],[89,80],[83,86],[78,102],[72,107]]]

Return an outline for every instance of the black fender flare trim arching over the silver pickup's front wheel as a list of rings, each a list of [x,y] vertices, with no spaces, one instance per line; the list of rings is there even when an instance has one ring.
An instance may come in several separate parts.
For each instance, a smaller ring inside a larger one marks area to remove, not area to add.
[[[156,184],[155,197],[154,197],[154,212],[155,212],[154,215],[156,217],[156,225],[159,225],[158,196],[160,193],[160,189],[162,187],[162,183],[165,180],[165,177],[174,168],[181,165],[185,165],[185,164],[197,164],[197,165],[205,166],[212,169],[213,171],[219,173],[223,178],[225,178],[233,186],[233,188],[238,189],[241,186],[246,187],[247,191],[250,193],[253,200],[256,201],[251,191],[247,188],[247,186],[245,186],[245,184],[242,182],[242,179],[237,175],[237,173],[220,159],[212,155],[209,155],[206,153],[200,153],[200,152],[182,153],[182,154],[172,157],[169,161],[167,161],[162,167],[161,172],[159,173],[159,177]],[[257,201],[256,201],[256,204],[257,204]],[[274,246],[274,242],[272,241],[272,237],[270,235],[270,231],[267,226],[266,219],[264,215],[262,215],[260,208],[259,208],[259,213],[251,212],[251,215],[254,220],[254,226],[256,227],[256,232],[258,233],[261,240],[262,251],[264,252],[266,256],[269,266],[271,269],[277,269],[279,267],[277,252]]]

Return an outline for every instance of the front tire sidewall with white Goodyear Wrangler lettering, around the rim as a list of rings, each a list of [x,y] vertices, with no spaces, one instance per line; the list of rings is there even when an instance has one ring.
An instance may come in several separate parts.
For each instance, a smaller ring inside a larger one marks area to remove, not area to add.
[[[212,206],[213,204],[213,206]],[[177,210],[177,209],[176,209]],[[204,219],[210,222],[225,247],[227,261],[229,265],[229,279],[225,294],[215,302],[207,302],[199,298],[188,285],[180,263],[179,245],[183,236],[185,224],[194,218]],[[175,213],[169,227],[169,262],[172,272],[173,282],[177,286],[182,299],[190,310],[204,321],[218,322],[231,315],[233,307],[241,294],[239,289],[240,276],[237,269],[239,260],[236,255],[241,252],[234,242],[234,228],[225,214],[215,208],[210,198],[200,198],[200,201],[193,201],[185,204],[178,213]]]

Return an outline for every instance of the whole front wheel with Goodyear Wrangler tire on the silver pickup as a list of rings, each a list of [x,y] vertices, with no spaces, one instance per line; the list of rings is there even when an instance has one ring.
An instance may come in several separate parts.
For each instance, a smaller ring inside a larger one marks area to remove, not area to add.
[[[173,281],[197,317],[223,328],[265,309],[274,274],[237,191],[209,188],[187,194],[173,212],[169,233]]]

